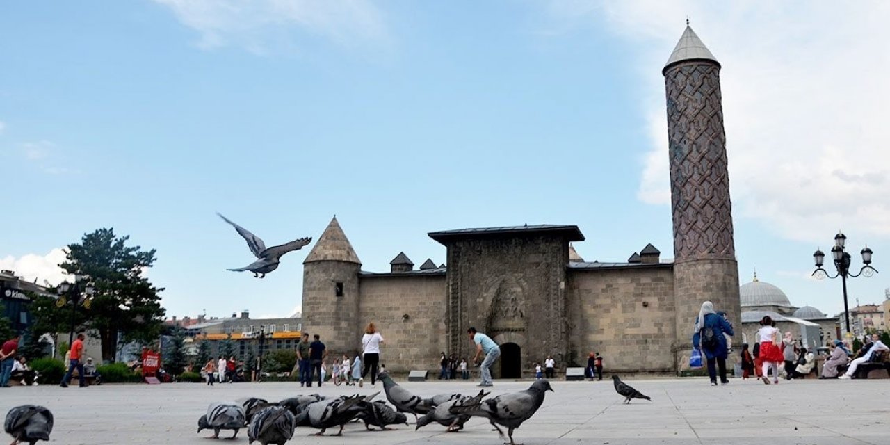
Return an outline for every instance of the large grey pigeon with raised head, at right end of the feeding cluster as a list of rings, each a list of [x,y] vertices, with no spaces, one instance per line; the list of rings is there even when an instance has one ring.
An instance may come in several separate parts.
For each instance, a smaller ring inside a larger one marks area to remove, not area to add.
[[[495,427],[502,439],[504,438],[504,432],[498,428],[498,425],[507,427],[510,445],[517,445],[513,441],[513,431],[538,411],[541,403],[544,403],[544,394],[547,391],[553,392],[553,388],[550,387],[550,382],[542,378],[535,380],[535,383],[531,384],[531,387],[525,391],[501,394],[498,397],[484,401],[481,398],[474,397],[473,401],[455,403],[449,408],[449,413],[488,417],[489,422]]]

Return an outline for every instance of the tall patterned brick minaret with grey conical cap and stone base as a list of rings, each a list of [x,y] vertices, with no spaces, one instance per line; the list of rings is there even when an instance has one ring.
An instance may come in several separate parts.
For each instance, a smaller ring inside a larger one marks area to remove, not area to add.
[[[683,369],[689,367],[701,303],[713,302],[734,328],[741,328],[739,266],[732,241],[720,62],[687,23],[661,73],[674,214],[674,350]]]

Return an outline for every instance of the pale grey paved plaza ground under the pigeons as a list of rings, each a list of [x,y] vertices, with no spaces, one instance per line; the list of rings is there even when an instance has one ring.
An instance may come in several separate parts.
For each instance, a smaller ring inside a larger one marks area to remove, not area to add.
[[[614,392],[611,380],[602,382],[554,381],[538,413],[514,434],[532,444],[748,444],[755,441],[782,444],[890,444],[890,380],[782,381],[765,385],[757,380],[733,379],[712,387],[707,379],[629,380],[652,401],[630,405]],[[401,382],[420,395],[441,392],[477,392],[472,381]],[[493,394],[513,392],[530,382],[496,381]],[[313,387],[328,396],[383,391],[371,387]],[[0,409],[35,403],[55,415],[52,442],[76,444],[121,443],[247,443],[242,430],[235,441],[205,439],[196,433],[198,417],[212,401],[242,397],[269,400],[311,393],[293,383],[262,384],[104,384],[62,389],[45,384],[12,387],[0,392]],[[380,399],[384,398],[381,392]],[[440,425],[414,431],[368,432],[363,425],[346,426],[342,437],[307,437],[315,430],[298,428],[294,444],[473,444],[498,445],[498,433],[483,419],[473,419],[460,433],[445,433]],[[328,430],[328,433],[336,433]],[[211,432],[212,434],[212,432]],[[223,432],[221,436],[231,435]],[[42,443],[42,442],[41,442]]]

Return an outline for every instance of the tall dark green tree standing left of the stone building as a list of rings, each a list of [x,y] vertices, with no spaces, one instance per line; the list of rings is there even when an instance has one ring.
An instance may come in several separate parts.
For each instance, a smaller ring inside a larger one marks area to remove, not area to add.
[[[112,229],[87,233],[80,244],[69,245],[67,261],[60,264],[69,273],[89,275],[95,283],[84,317],[90,328],[99,331],[104,361],[115,359],[118,332],[124,341],[150,343],[162,330],[165,311],[158,293],[164,289],[142,276],[155,263],[155,250],[128,247],[128,239],[117,237]]]

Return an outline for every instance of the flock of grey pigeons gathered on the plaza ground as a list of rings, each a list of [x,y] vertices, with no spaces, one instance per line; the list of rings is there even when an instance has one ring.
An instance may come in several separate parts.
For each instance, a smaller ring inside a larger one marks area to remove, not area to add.
[[[368,430],[372,429],[372,425],[388,430],[388,425],[409,425],[406,414],[412,414],[416,420],[415,430],[435,422],[447,427],[447,432],[463,429],[470,417],[485,417],[502,439],[504,431],[498,425],[506,427],[510,440],[507,443],[515,445],[514,430],[538,411],[544,403],[544,394],[553,391],[548,381],[539,379],[525,391],[509,392],[490,399],[485,398],[490,392],[484,390],[473,396],[438,394],[423,398],[395,383],[385,372],[379,378],[384,384],[386,400],[395,409],[385,401],[371,401],[380,392],[336,399],[312,394],[278,402],[251,397],[210,404],[206,414],[198,419],[198,433],[213,430],[212,437],[218,438],[221,431],[232,430],[231,439],[234,439],[241,429],[247,428],[248,443],[257,441],[261,445],[283,445],[294,437],[297,426],[320,430],[314,435],[322,435],[328,428],[336,426],[340,429],[334,435],[340,435],[344,425],[353,421],[364,422]],[[612,376],[612,380],[615,391],[625,397],[625,403],[630,403],[632,399],[651,401],[642,392],[621,382],[618,376]],[[53,432],[53,413],[41,406],[22,405],[9,411],[4,429],[12,435],[12,445],[49,441]]]

